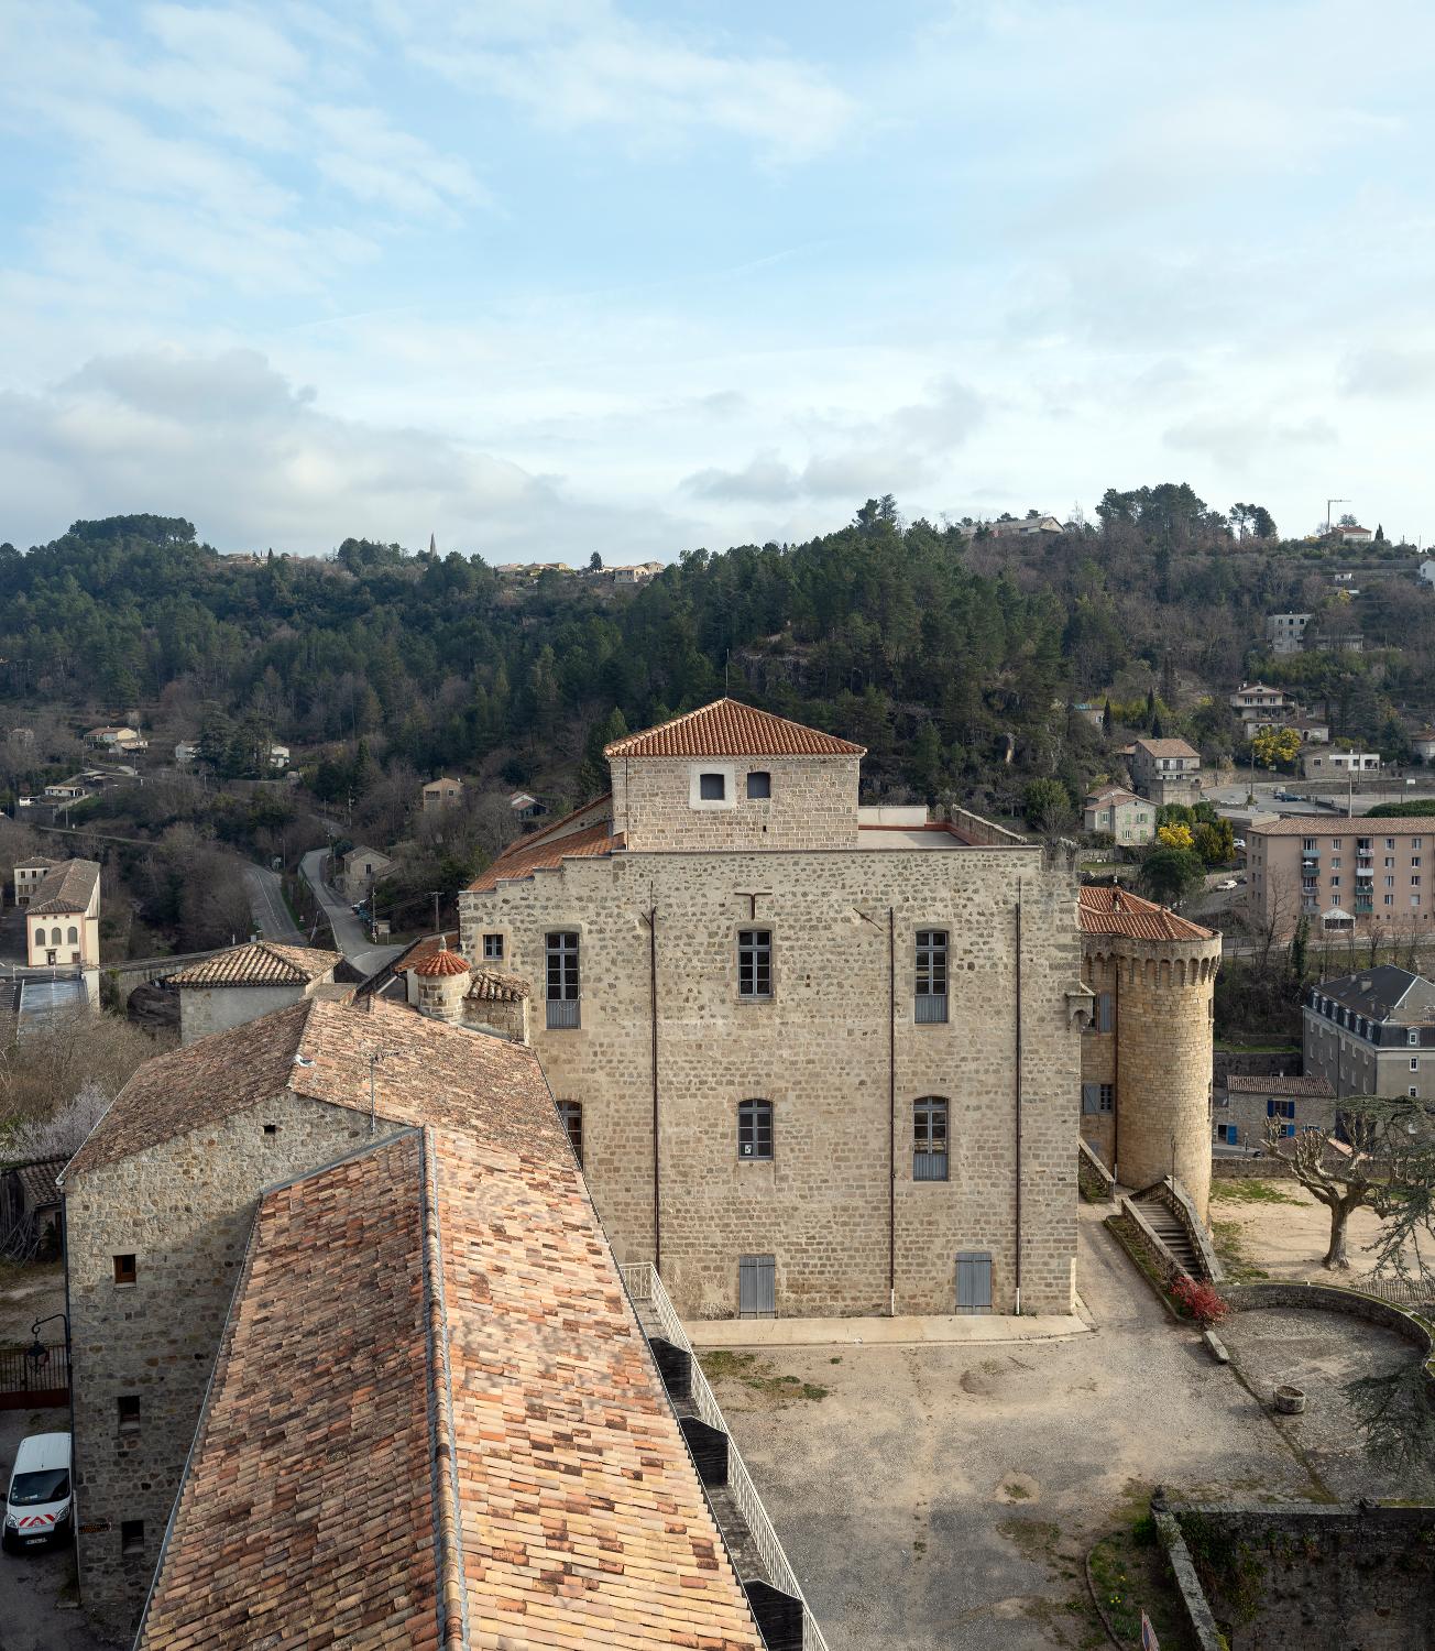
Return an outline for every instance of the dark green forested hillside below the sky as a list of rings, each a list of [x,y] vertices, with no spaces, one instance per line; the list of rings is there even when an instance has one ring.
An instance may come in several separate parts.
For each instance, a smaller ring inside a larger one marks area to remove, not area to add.
[[[1267,532],[1268,530],[1268,532]],[[870,748],[875,789],[915,794],[1055,776],[1078,792],[1116,721],[1235,750],[1224,695],[1250,669],[1298,684],[1372,738],[1428,705],[1435,598],[1412,555],[1367,581],[1362,655],[1268,660],[1263,616],[1329,611],[1324,543],[1283,543],[1260,507],[1220,515],[1189,487],[1110,492],[1098,522],[1039,540],[870,500],[804,545],[692,551],[636,591],[585,575],[515,584],[477,556],[345,540],[332,560],[226,558],[183,520],[76,522],[0,546],[0,692],[114,717],[160,707],[211,748],[246,725],[418,771],[598,778],[604,733],[733,692]],[[1204,703],[1214,693],[1214,702]],[[621,725],[619,720],[621,718]],[[585,761],[586,759],[586,761]],[[334,764],[339,764],[337,768]]]

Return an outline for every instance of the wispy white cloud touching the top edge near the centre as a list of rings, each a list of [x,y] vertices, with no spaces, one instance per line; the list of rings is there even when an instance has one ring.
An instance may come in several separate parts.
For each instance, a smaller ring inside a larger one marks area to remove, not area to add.
[[[380,10],[414,61],[560,132],[608,127],[649,152],[728,132],[796,162],[831,149],[855,116],[854,101],[811,64],[695,45],[608,0],[467,8],[388,0]]]

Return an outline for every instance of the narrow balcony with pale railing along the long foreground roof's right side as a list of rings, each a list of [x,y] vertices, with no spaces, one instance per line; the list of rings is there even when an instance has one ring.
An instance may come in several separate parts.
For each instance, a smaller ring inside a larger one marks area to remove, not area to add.
[[[723,1413],[702,1374],[682,1319],[657,1276],[657,1268],[651,1261],[636,1261],[621,1271],[628,1298],[649,1339],[654,1364],[657,1364],[667,1387],[669,1402],[677,1413],[684,1438],[689,1441],[694,1464],[702,1478],[703,1494],[733,1562],[733,1572],[743,1578],[758,1625],[765,1626],[765,1618],[773,1610],[779,1620],[784,1616],[784,1608],[789,1606],[793,1613],[799,1610],[803,1651],[827,1651],[822,1630],[817,1626],[812,1608],[807,1605],[788,1555],[783,1552],[778,1532],[773,1529],[766,1507],[763,1507],[736,1441],[723,1422]],[[778,1600],[773,1600],[774,1590],[779,1595]],[[786,1600],[781,1595],[786,1595]],[[786,1623],[781,1626],[784,1630],[781,1643],[794,1643],[786,1634]],[[796,1621],[793,1621],[793,1630],[796,1630]],[[766,1638],[768,1630],[765,1628]]]

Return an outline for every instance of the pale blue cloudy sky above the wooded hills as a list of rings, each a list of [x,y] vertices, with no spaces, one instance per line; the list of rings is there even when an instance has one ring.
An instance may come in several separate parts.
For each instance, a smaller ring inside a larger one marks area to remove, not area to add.
[[[1435,538],[1428,0],[0,0],[0,540]]]

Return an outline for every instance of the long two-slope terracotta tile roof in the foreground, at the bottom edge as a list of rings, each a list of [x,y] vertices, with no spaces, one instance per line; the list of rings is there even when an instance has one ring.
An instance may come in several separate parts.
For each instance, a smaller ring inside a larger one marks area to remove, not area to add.
[[[320,1626],[357,1651],[761,1648],[552,1105],[259,1207],[137,1644]]]

